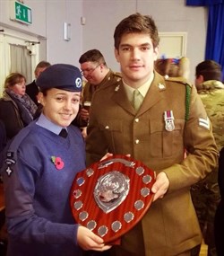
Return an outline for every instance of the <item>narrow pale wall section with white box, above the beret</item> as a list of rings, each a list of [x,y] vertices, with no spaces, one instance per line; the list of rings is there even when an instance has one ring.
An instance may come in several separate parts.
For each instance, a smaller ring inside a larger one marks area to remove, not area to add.
[[[54,6],[55,5],[55,6]],[[82,54],[82,1],[47,1],[47,59],[79,66]],[[71,40],[63,39],[63,23],[71,23]]]

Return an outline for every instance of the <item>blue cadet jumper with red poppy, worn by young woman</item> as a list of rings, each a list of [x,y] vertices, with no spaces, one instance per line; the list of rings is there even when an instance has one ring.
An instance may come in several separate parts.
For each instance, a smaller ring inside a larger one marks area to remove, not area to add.
[[[84,141],[79,128],[69,126],[66,138],[59,130],[40,116],[8,148],[2,169],[8,256],[82,255],[69,193],[85,169]]]

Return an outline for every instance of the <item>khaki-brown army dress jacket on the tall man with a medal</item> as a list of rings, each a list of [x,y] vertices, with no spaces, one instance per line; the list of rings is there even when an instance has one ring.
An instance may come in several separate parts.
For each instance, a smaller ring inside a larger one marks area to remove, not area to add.
[[[153,202],[142,218],[146,256],[177,255],[202,242],[190,187],[216,166],[218,151],[202,101],[194,86],[186,97],[186,86],[190,85],[184,80],[165,80],[155,72],[137,112],[127,99],[122,80],[96,91],[92,98],[87,166],[107,152],[131,154],[168,176],[167,194]],[[168,110],[174,115],[175,128],[171,131],[165,128],[164,113]],[[189,153],[186,158],[185,150]],[[132,250],[132,242],[124,243],[128,237],[129,233],[122,238],[127,251]],[[138,240],[137,234],[134,240]],[[138,248],[133,250],[138,252]]]

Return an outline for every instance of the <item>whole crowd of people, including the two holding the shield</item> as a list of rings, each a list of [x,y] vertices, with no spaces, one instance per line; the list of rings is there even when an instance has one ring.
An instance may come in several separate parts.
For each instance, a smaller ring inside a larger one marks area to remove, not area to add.
[[[90,49],[79,67],[41,61],[31,84],[19,73],[6,77],[0,165],[7,255],[196,256],[203,239],[208,256],[223,256],[221,66],[202,61],[192,84],[177,65],[183,61],[175,62],[179,73],[170,60],[157,65],[158,28],[141,13],[117,24],[114,46],[120,72]],[[69,202],[75,174],[113,154],[156,173],[151,207],[119,244],[74,223]]]

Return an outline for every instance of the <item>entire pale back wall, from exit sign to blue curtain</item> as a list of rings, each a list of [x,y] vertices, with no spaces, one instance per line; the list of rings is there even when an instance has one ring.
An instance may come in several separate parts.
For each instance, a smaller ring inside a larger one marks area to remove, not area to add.
[[[38,37],[40,58],[51,63],[78,66],[82,52],[97,48],[108,66],[118,70],[113,33],[118,22],[135,12],[150,14],[160,32],[187,32],[191,80],[194,67],[204,57],[207,11],[204,7],[185,6],[185,0],[24,0],[32,8],[33,23],[29,26],[10,21],[10,2],[0,0],[0,29],[8,27]],[[81,24],[81,17],[85,18],[85,25]],[[63,22],[71,23],[70,41],[63,40]]]

